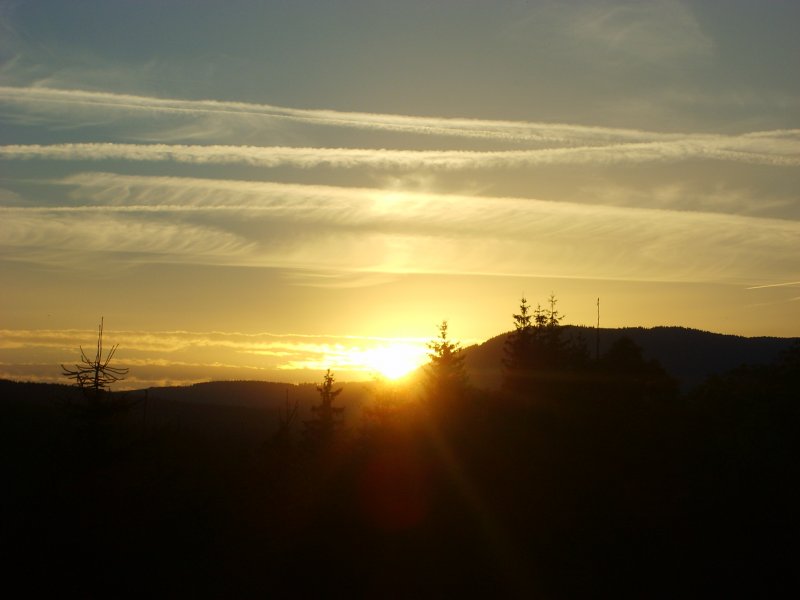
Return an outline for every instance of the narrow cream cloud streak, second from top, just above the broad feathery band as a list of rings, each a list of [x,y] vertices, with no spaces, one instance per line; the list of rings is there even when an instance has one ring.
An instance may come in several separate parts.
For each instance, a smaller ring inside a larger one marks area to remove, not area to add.
[[[677,141],[517,151],[424,151],[166,144],[0,146],[6,160],[126,160],[258,167],[493,169],[539,165],[675,162],[691,159],[800,166],[800,130],[743,136],[687,136]]]

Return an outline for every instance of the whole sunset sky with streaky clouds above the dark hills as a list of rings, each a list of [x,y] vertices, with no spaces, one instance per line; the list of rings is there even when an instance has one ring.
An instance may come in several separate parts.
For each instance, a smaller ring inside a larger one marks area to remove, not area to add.
[[[0,0],[0,377],[800,336],[800,3]],[[401,368],[402,367],[402,368]]]

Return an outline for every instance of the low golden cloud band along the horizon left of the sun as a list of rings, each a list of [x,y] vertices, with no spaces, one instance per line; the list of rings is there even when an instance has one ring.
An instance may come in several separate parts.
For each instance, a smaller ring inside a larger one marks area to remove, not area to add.
[[[209,379],[279,379],[303,381],[308,369],[332,368],[349,377],[369,378],[370,359],[386,348],[416,349],[417,338],[275,334],[223,331],[115,331],[105,339],[119,344],[116,364],[131,376],[115,389],[148,385],[187,385]],[[91,348],[96,332],[76,329],[0,330],[0,377],[64,382],[60,364],[72,364],[78,346]],[[29,360],[36,358],[36,360]]]

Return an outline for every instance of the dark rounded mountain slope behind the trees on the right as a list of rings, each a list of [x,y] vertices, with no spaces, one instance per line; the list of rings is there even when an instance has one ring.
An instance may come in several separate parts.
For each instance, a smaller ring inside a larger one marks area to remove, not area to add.
[[[567,326],[567,336],[582,336],[592,356],[596,330]],[[465,349],[466,365],[473,383],[497,388],[502,382],[503,346],[508,333]],[[600,353],[616,340],[629,337],[642,347],[645,358],[656,359],[686,390],[710,375],[724,373],[742,364],[769,363],[800,338],[756,337],[710,333],[685,327],[624,327],[600,330]]]

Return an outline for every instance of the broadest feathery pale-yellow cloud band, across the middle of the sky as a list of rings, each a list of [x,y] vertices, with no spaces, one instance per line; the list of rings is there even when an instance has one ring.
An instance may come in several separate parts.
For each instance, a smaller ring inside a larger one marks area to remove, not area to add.
[[[82,204],[1,209],[7,255],[738,282],[793,277],[800,244],[798,222],[739,215],[112,173],[60,183]]]

